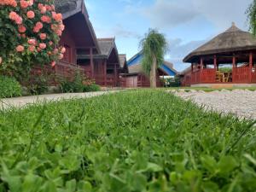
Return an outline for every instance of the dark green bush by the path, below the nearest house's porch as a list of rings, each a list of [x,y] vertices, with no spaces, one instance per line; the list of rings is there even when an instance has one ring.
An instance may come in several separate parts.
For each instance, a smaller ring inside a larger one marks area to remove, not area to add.
[[[62,79],[61,91],[63,93],[81,93],[101,90],[100,86],[94,81],[87,79],[81,73],[77,72],[73,80]]]

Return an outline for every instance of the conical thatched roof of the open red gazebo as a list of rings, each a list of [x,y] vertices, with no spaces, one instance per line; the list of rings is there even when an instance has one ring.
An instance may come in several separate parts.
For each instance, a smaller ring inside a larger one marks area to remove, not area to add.
[[[212,38],[207,44],[203,44],[187,55],[184,62],[194,62],[201,55],[214,55],[220,53],[229,53],[241,50],[256,49],[256,39],[250,32],[241,31],[235,23],[225,32]]]

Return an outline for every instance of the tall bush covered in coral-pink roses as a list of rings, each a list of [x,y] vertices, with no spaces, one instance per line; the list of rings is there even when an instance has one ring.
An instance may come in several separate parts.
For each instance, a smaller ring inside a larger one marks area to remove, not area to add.
[[[34,65],[54,67],[65,52],[63,30],[53,0],[1,0],[0,73],[22,79]]]

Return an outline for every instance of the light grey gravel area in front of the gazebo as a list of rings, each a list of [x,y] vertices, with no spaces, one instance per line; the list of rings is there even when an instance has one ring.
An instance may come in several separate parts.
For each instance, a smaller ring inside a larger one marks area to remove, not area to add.
[[[204,105],[207,109],[221,113],[233,113],[240,118],[256,119],[256,91],[221,90],[207,93],[190,90],[190,92],[175,92],[175,95],[191,100],[200,106]]]

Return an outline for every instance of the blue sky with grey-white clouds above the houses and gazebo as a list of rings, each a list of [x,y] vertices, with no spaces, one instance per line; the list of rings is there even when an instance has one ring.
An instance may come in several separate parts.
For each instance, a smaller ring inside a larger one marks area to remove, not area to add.
[[[119,54],[129,60],[140,50],[149,28],[166,36],[166,61],[177,71],[183,58],[232,22],[247,31],[246,10],[253,0],[85,0],[97,38],[115,38]]]

